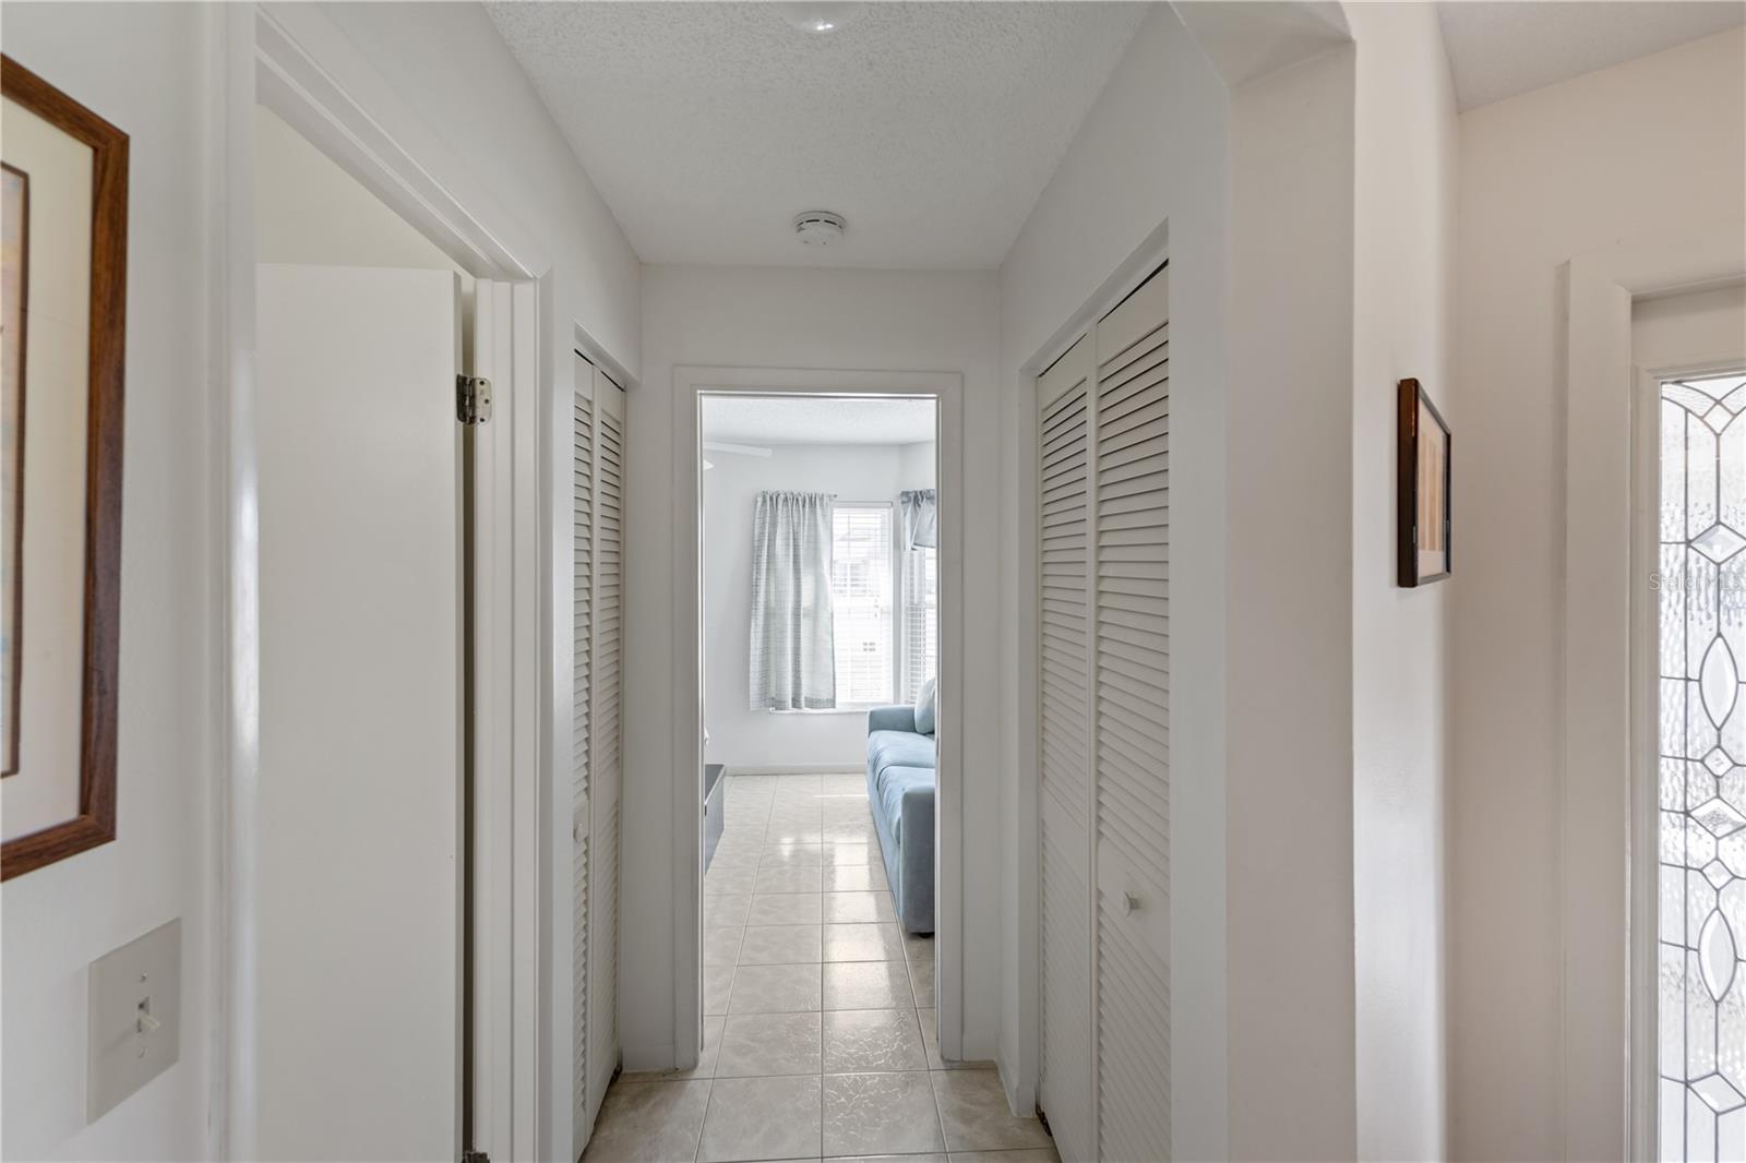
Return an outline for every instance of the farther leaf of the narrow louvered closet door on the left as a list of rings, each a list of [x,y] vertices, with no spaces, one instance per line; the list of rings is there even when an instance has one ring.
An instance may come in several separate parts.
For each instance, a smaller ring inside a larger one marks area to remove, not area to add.
[[[594,372],[594,606],[588,714],[594,831],[588,842],[588,1105],[618,1069],[618,805],[623,786],[625,393]]]

